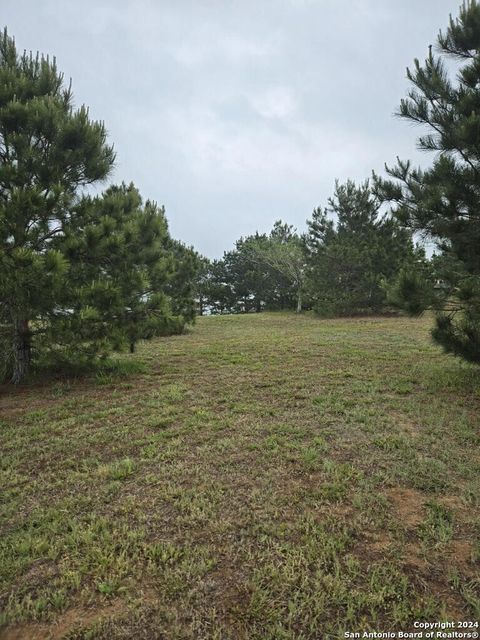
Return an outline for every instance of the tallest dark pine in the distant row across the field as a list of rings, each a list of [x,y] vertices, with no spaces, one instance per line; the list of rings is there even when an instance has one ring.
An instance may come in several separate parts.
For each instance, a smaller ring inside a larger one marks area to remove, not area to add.
[[[308,221],[308,288],[322,315],[379,313],[383,282],[415,259],[410,234],[380,215],[369,183],[336,183],[329,206]]]

